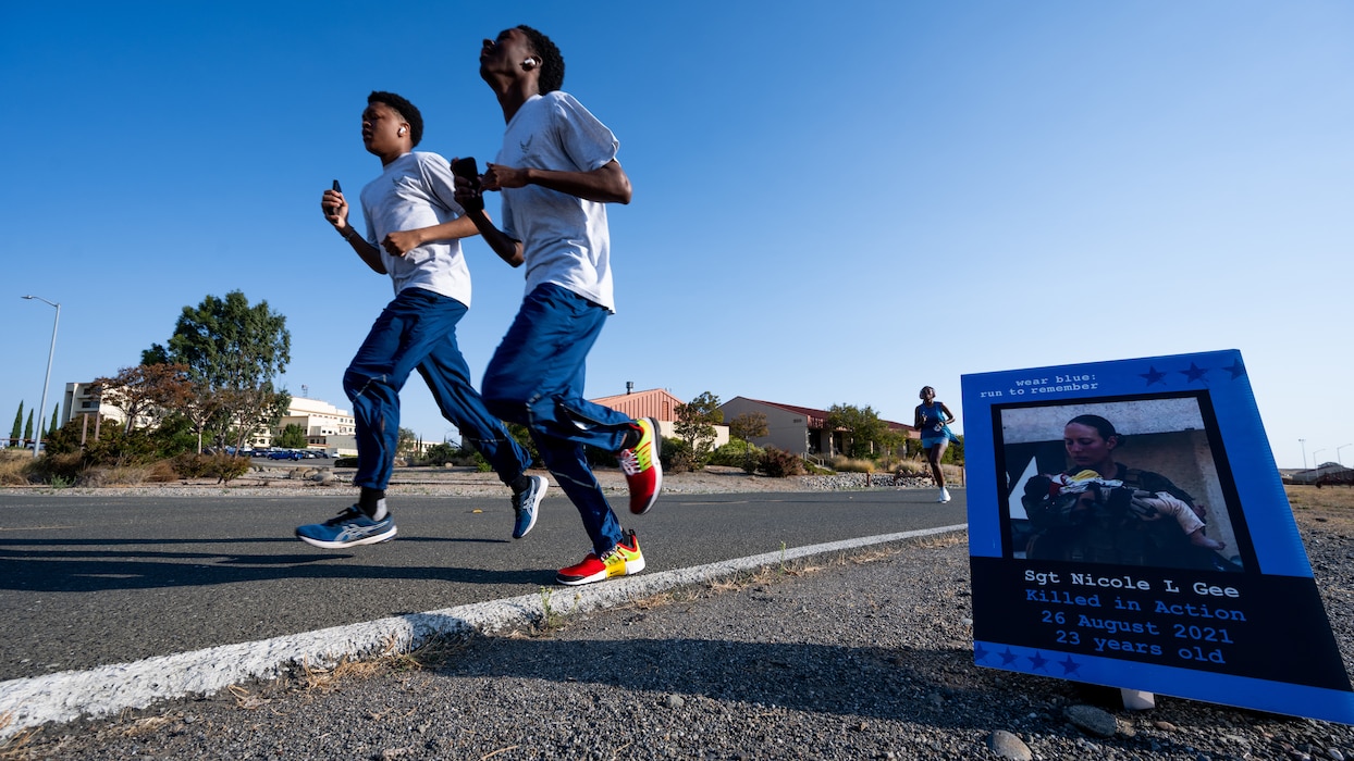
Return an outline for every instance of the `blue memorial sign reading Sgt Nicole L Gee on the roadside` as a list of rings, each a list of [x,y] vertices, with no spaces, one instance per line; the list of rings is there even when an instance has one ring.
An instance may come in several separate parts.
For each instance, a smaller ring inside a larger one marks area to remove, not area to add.
[[[978,665],[1354,723],[1239,351],[961,380]]]

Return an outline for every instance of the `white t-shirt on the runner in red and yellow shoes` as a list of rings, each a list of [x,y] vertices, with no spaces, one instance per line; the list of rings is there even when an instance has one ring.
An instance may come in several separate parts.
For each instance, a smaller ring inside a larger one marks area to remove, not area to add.
[[[566,92],[531,97],[504,132],[494,164],[592,172],[616,158],[616,135]],[[539,185],[502,191],[502,230],[523,242],[527,293],[554,283],[615,312],[607,205]]]

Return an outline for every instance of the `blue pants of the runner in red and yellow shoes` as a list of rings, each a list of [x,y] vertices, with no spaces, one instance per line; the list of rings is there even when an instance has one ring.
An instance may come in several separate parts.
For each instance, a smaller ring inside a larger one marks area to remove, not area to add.
[[[584,445],[619,451],[632,430],[626,415],[584,399],[584,364],[608,311],[554,284],[521,303],[482,385],[485,406],[531,430],[540,458],[578,508],[598,557],[624,537],[593,476]]]

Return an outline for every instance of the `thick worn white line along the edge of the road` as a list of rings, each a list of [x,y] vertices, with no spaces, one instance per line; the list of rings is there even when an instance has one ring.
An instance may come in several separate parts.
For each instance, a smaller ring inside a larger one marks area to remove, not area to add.
[[[960,523],[899,534],[880,534],[791,547],[784,551],[649,573],[632,579],[616,579],[598,585],[550,588],[550,608],[554,614],[566,615],[588,612],[657,595],[676,587],[699,584],[766,565],[779,565],[783,561],[965,529],[968,524]],[[542,593],[523,595],[424,614],[288,634],[259,642],[241,642],[173,656],[158,656],[89,670],[12,679],[0,683],[0,718],[7,714],[9,718],[9,723],[0,727],[0,739],[47,722],[69,722],[80,716],[107,716],[125,708],[144,708],[156,700],[210,695],[252,679],[275,679],[298,664],[328,668],[344,657],[356,658],[386,652],[406,652],[439,634],[493,633],[527,626],[543,618],[543,597]]]

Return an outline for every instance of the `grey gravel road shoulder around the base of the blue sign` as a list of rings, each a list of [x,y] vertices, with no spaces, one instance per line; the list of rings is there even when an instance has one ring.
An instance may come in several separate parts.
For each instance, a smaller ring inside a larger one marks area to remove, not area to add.
[[[1294,501],[1296,504],[1296,501]],[[1354,661],[1354,520],[1298,526]],[[1354,727],[976,668],[963,534],[816,557],[532,630],[42,727],[16,758],[1330,758]],[[1091,708],[1093,711],[1095,708]],[[990,749],[994,733],[1006,756]],[[24,743],[22,747],[14,747]],[[1029,756],[1021,756],[1021,753]]]

